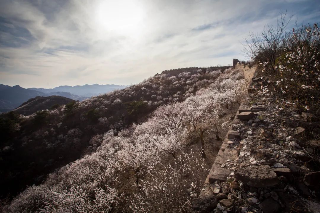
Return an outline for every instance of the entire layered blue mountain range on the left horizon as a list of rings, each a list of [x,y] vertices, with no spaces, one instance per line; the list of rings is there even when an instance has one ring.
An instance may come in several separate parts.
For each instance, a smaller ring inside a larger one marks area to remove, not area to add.
[[[58,95],[73,100],[83,101],[89,97],[105,94],[116,89],[122,89],[127,86],[106,84],[106,85],[83,85],[83,86],[60,86],[52,89],[45,88],[23,88],[19,85],[7,86],[0,84],[0,112],[11,111],[19,107],[22,103],[36,96]]]

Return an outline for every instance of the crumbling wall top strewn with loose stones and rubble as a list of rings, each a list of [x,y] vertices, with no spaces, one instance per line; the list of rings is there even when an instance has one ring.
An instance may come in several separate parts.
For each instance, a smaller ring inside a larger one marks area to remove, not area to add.
[[[251,84],[194,211],[320,212],[319,118]]]

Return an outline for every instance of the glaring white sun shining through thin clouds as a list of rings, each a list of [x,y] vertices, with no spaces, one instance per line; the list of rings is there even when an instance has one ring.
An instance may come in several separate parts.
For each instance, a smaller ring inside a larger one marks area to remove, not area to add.
[[[141,5],[134,0],[101,1],[96,10],[98,27],[117,33],[138,32],[143,19]]]

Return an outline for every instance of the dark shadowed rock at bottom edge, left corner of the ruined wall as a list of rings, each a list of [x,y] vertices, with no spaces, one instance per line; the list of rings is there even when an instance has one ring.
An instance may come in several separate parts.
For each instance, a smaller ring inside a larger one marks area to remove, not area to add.
[[[198,197],[192,200],[192,209],[197,213],[211,212],[217,207],[217,199],[212,196]]]

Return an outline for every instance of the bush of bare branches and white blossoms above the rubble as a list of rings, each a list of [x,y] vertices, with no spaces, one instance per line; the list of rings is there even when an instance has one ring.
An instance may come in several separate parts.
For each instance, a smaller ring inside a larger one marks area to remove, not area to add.
[[[320,113],[320,29],[298,25],[287,31],[291,18],[281,13],[277,26],[246,39],[245,54],[269,77],[273,93],[297,107]],[[262,88],[263,89],[263,88]]]

